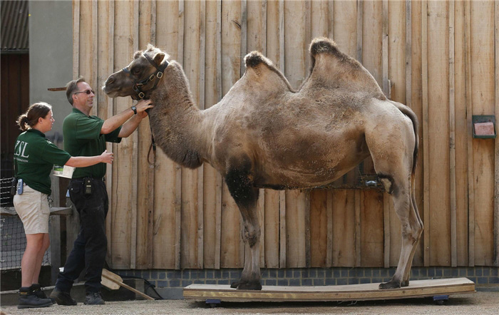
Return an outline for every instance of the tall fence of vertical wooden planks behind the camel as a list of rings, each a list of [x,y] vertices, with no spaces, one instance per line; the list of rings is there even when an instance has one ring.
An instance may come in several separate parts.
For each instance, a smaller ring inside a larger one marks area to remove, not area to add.
[[[74,0],[73,14],[74,78],[98,88],[153,43],[182,63],[200,108],[242,76],[249,51],[262,51],[297,88],[312,38],[333,38],[421,122],[416,194],[425,230],[413,265],[498,264],[499,140],[472,138],[471,124],[472,114],[499,121],[498,2]],[[100,90],[96,98],[101,118],[132,105]],[[183,169],[162,152],[150,164],[149,148],[146,120],[108,148],[112,267],[242,267],[240,213],[220,175],[210,165]],[[401,228],[384,192],[260,195],[263,267],[398,262]]]

